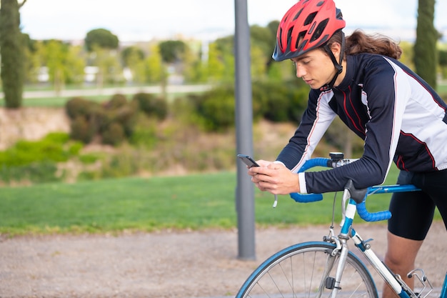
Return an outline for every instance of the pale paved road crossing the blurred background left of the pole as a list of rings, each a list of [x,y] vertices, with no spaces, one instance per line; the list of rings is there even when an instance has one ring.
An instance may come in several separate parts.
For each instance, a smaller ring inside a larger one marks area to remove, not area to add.
[[[168,93],[189,93],[209,90],[209,85],[169,85],[166,86]],[[70,89],[62,90],[57,94],[54,90],[45,91],[24,91],[24,99],[36,99],[45,97],[72,97],[72,96],[109,96],[114,94],[135,94],[137,92],[161,93],[161,86],[123,86],[102,89]],[[3,92],[0,92],[0,98],[3,98]]]

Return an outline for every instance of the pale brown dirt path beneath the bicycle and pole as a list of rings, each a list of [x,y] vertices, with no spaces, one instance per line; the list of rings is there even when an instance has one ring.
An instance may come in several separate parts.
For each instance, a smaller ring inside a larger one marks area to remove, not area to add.
[[[379,257],[386,227],[356,227]],[[327,227],[256,230],[256,260],[238,259],[236,231],[1,238],[0,297],[231,297],[274,252],[321,240]],[[417,259],[434,287],[446,274],[447,233],[431,227]],[[381,286],[379,286],[381,287]]]

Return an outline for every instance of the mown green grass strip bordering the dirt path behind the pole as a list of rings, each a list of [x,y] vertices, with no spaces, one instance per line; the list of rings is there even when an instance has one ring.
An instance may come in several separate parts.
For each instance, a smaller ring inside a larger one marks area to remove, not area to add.
[[[390,184],[396,173],[388,177]],[[76,184],[39,184],[0,188],[0,232],[151,232],[159,229],[230,229],[237,226],[236,174],[191,174],[184,177],[105,179]],[[333,194],[321,202],[298,204],[256,189],[258,226],[329,224]],[[341,193],[338,194],[339,210]],[[389,195],[369,199],[372,211],[387,209]],[[440,219],[436,214],[437,219]],[[339,221],[340,217],[336,217]],[[356,219],[361,222],[361,219]]]

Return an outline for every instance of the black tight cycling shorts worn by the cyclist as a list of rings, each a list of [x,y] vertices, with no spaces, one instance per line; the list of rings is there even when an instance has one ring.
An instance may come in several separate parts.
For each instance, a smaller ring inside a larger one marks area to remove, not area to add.
[[[414,184],[422,191],[393,194],[389,232],[406,239],[425,239],[435,207],[438,207],[447,229],[447,169],[429,173],[401,171],[397,184]]]

